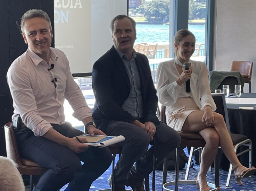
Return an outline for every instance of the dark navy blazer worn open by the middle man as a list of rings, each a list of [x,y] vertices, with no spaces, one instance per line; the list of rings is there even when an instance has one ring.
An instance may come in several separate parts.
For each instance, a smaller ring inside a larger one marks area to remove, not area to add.
[[[152,121],[159,124],[156,116],[158,98],[154,86],[148,58],[138,53],[135,58],[137,63],[143,100],[143,115],[140,122]],[[122,105],[130,94],[130,80],[124,63],[114,46],[100,57],[92,69],[92,89],[96,103],[92,111],[96,127],[106,132],[109,120],[125,121],[132,123],[135,118],[123,110]]]

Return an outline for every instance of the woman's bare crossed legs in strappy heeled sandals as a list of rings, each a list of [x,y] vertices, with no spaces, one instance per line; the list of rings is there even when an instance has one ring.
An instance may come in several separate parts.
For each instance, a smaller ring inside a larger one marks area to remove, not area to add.
[[[223,116],[215,112],[213,112],[213,114],[215,122],[214,126],[206,125],[206,122],[203,122],[202,118],[204,111],[193,111],[189,114],[182,127],[182,131],[184,132],[198,132],[206,142],[201,155],[200,175],[206,175],[208,168],[212,164],[217,154],[219,144],[232,166],[238,165],[237,168],[234,169],[234,174],[245,174],[248,170],[250,170],[250,168],[245,168],[244,166],[240,165],[236,153],[234,152],[233,142]],[[199,184],[201,184],[200,191],[208,191],[210,189],[207,185],[205,185],[206,178],[203,176],[197,177]]]

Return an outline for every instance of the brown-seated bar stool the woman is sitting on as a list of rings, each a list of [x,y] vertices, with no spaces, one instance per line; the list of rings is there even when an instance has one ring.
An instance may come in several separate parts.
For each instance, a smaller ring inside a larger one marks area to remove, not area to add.
[[[160,105],[159,107],[159,115],[160,115],[160,121],[166,124],[166,116],[165,116],[165,106]],[[190,155],[189,155],[189,161],[187,165],[187,171],[185,175],[185,180],[179,181],[179,149],[176,149],[176,169],[175,169],[175,181],[167,182],[166,183],[166,177],[167,177],[167,159],[164,159],[164,167],[163,167],[163,190],[167,191],[167,186],[175,185],[175,191],[178,191],[178,185],[179,184],[196,184],[195,180],[188,180],[188,174],[190,170],[190,164],[192,161],[192,156],[194,152],[194,147],[204,147],[205,141],[203,137],[200,136],[199,133],[189,133],[189,132],[178,132],[181,136],[181,144],[180,147],[191,147],[190,149]],[[212,188],[220,187],[220,180],[219,180],[219,168],[218,168],[218,155],[216,155],[214,159],[214,171],[215,171],[215,184],[208,183],[208,185]]]

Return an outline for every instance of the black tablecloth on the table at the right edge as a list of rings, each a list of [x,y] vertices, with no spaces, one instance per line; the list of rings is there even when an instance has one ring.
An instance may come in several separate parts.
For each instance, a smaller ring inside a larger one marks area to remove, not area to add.
[[[242,94],[243,98],[256,98],[256,94]],[[234,98],[235,99],[235,98]],[[242,110],[239,106],[254,107],[255,110]],[[256,165],[256,105],[227,104],[231,133],[243,134],[253,142],[253,165]],[[246,147],[245,147],[246,148]],[[247,147],[248,148],[248,147]],[[244,149],[244,148],[242,148]],[[248,152],[240,156],[240,162],[248,167]]]

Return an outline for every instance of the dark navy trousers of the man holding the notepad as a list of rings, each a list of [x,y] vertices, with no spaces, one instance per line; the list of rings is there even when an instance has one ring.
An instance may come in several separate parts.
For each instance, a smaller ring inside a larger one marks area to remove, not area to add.
[[[67,123],[52,126],[66,137],[83,134]],[[26,130],[28,129],[21,131]],[[72,191],[89,191],[92,182],[104,173],[112,162],[112,154],[108,148],[90,147],[83,153],[76,154],[47,138],[28,133],[30,136],[24,139],[22,136],[19,137],[20,134],[24,133],[16,134],[20,156],[48,168],[33,191],[56,191],[68,182],[68,187]],[[81,160],[84,162],[83,165]]]

